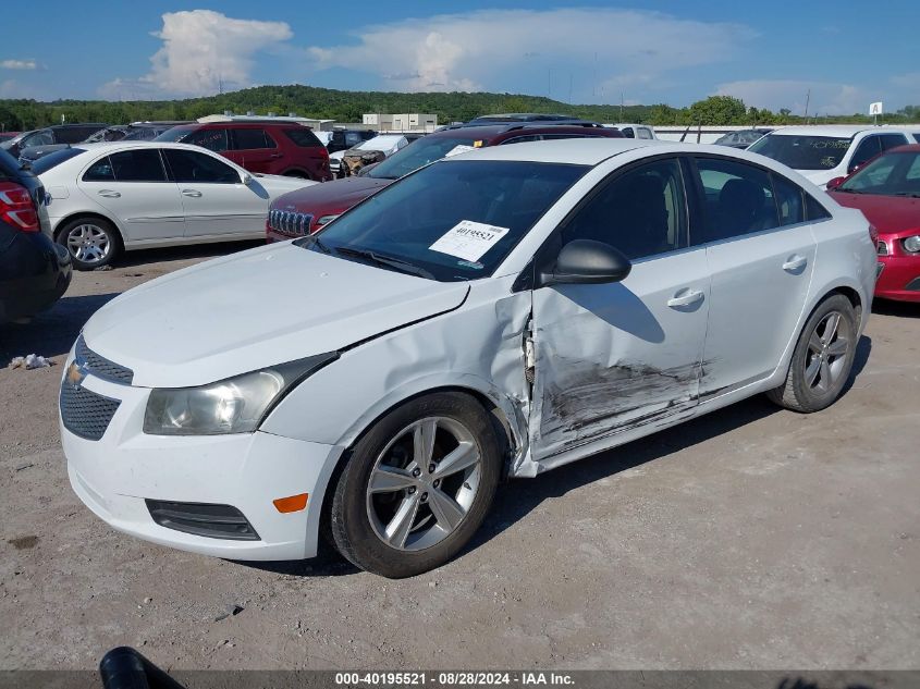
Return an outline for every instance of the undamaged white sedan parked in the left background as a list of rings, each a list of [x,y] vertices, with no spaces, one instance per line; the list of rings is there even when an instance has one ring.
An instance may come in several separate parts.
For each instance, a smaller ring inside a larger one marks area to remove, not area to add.
[[[252,174],[198,146],[81,144],[33,167],[48,194],[54,238],[82,270],[122,249],[265,236],[272,199],[316,184]]]

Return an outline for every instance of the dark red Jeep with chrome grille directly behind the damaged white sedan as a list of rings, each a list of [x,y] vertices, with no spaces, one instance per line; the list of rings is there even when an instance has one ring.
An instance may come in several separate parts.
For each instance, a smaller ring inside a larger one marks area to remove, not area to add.
[[[450,153],[483,146],[555,138],[622,138],[620,131],[592,122],[549,124],[501,123],[481,126],[445,127],[413,142],[387,160],[368,167],[357,177],[315,185],[279,196],[269,209],[266,239],[283,242],[319,230],[352,206],[382,189],[403,175]]]

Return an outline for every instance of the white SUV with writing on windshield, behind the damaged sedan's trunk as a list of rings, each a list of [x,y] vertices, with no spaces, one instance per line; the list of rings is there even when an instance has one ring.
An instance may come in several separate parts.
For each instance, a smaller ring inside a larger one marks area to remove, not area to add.
[[[748,147],[797,170],[824,186],[845,177],[859,165],[890,148],[913,144],[920,126],[892,127],[871,124],[789,126],[774,130]]]

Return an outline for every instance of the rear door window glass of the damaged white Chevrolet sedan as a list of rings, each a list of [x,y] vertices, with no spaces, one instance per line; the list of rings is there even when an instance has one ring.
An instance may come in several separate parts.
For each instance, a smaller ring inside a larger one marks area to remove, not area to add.
[[[706,193],[701,243],[728,239],[778,225],[770,174],[736,160],[697,158]],[[700,243],[700,242],[698,242]]]

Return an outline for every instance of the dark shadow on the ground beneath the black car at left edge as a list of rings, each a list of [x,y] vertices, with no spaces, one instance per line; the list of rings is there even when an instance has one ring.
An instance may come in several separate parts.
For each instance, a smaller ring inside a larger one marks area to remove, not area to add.
[[[66,354],[89,317],[118,295],[118,292],[110,292],[63,296],[28,323],[0,325],[0,368],[9,366],[17,356],[38,354],[51,358]]]

